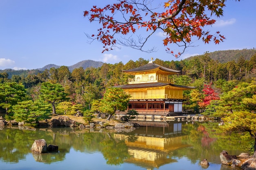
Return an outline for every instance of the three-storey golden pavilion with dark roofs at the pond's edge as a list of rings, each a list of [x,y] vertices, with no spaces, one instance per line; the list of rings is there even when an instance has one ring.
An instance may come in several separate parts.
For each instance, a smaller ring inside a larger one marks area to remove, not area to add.
[[[127,85],[117,86],[131,95],[128,109],[134,109],[139,114],[182,114],[182,102],[188,100],[182,93],[195,87],[175,85],[168,76],[178,75],[180,70],[162,67],[153,63],[152,59],[141,67],[123,70],[125,74],[134,76],[129,78]]]

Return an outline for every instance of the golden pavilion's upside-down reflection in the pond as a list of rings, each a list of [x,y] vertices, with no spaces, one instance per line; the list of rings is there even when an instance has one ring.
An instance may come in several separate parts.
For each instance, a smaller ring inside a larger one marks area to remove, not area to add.
[[[173,150],[189,147],[188,135],[182,132],[182,122],[137,122],[139,129],[126,134],[115,134],[128,146],[130,158],[126,162],[148,169],[176,162],[171,158]]]

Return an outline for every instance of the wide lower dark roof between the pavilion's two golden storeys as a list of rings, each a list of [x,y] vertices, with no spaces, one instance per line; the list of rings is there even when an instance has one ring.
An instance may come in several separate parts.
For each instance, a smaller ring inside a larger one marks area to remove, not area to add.
[[[186,88],[186,89],[193,89],[195,87],[191,86],[182,86],[182,85],[174,85],[171,83],[138,83],[138,84],[128,84],[128,85],[119,85],[115,87],[119,87],[121,89],[133,89],[133,88],[143,88],[143,87],[160,87],[160,86],[165,86],[165,85],[171,85],[173,87],[181,87],[181,88]]]

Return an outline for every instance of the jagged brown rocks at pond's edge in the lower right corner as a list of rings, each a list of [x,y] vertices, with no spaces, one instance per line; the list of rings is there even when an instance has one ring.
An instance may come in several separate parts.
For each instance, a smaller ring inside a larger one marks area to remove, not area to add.
[[[256,170],[256,158],[251,158],[247,153],[241,153],[236,157],[236,155],[229,155],[227,151],[223,150],[220,153],[220,160],[222,164],[231,165],[231,167]]]

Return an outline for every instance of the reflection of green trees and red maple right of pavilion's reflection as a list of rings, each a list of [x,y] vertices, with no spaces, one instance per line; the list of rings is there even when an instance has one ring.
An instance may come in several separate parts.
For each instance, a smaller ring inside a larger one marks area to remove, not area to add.
[[[230,155],[239,155],[245,150],[239,150],[238,145],[246,146],[248,143],[245,140],[237,140],[239,139],[238,134],[223,133],[218,123],[214,122],[188,123],[183,126],[182,131],[189,135],[186,143],[193,147],[175,150],[170,157],[173,155],[177,157],[185,156],[192,163],[203,159],[213,163],[220,163],[220,159],[216,155],[220,155],[222,150],[227,150]]]

